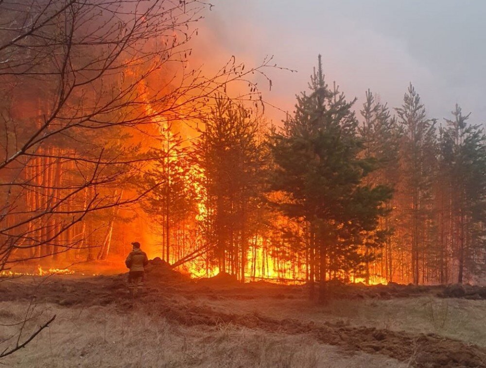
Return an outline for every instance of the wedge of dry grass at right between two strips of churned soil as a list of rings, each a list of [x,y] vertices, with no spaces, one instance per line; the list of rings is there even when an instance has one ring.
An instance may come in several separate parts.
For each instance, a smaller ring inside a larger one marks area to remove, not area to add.
[[[201,300],[220,311],[257,313],[273,318],[297,318],[343,322],[350,326],[372,326],[412,334],[434,333],[486,346],[486,301],[441,299],[436,297],[391,300],[335,300],[315,305],[302,299]]]

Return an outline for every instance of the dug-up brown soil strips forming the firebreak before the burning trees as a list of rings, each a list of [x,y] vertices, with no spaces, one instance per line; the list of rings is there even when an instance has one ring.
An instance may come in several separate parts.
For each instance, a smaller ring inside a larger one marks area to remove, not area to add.
[[[397,299],[422,296],[440,298],[486,298],[486,288],[450,285],[343,285],[330,284],[329,299]],[[278,285],[255,282],[241,285],[229,275],[194,281],[162,261],[147,268],[144,292],[136,301],[126,288],[126,275],[76,277],[52,275],[3,279],[0,281],[0,301],[49,302],[69,308],[92,305],[115,305],[121,311],[146,306],[150,315],[166,318],[171,323],[187,326],[235,326],[258,329],[269,333],[307,334],[317,341],[338,346],[343,351],[363,351],[383,354],[415,367],[486,367],[486,348],[436,334],[350,326],[342,321],[306,320],[305,318],[276,318],[265,313],[245,313],[242,310],[214,308],[205,301],[278,300],[282,308],[293,300],[306,301],[308,286]],[[309,301],[309,303],[311,303]],[[483,322],[482,322],[483,323]]]

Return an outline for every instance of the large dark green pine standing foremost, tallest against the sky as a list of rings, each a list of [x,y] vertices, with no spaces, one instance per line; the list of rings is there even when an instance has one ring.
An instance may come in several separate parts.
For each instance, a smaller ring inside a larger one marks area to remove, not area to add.
[[[294,116],[271,137],[276,164],[271,189],[288,195],[279,204],[284,214],[309,224],[311,298],[318,274],[324,301],[328,275],[346,278],[362,264],[360,246],[380,241],[374,231],[391,191],[363,184],[376,162],[359,157],[363,143],[352,111],[355,100],[347,102],[335,85],[328,87],[320,56],[309,88],[309,95],[297,96]]]

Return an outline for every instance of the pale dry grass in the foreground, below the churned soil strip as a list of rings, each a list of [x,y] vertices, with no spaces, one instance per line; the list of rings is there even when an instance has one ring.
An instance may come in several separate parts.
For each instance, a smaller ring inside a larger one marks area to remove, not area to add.
[[[1,302],[0,323],[22,320],[27,303]],[[4,359],[7,367],[404,367],[381,355],[350,354],[312,336],[268,334],[220,325],[186,327],[154,319],[140,306],[126,315],[114,307],[36,306],[25,335],[56,314],[52,326],[25,349]],[[18,326],[2,327],[0,339]],[[3,346],[3,345],[2,345]]]

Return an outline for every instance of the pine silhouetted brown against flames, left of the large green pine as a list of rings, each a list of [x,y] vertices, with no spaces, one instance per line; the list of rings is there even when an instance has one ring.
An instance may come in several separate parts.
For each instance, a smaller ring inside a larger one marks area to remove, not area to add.
[[[208,209],[204,226],[210,258],[244,282],[262,185],[259,121],[228,98],[216,97],[196,143]]]

